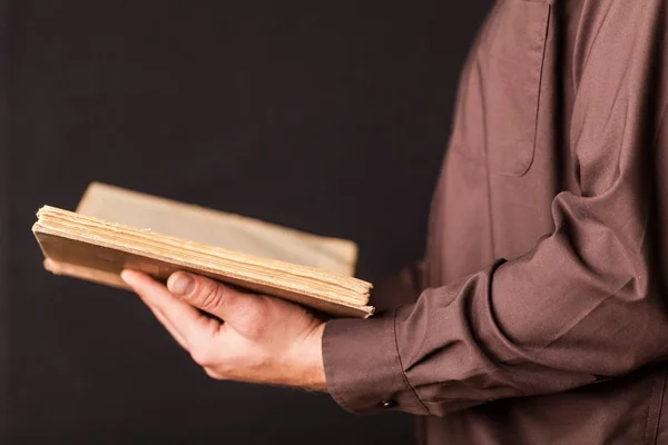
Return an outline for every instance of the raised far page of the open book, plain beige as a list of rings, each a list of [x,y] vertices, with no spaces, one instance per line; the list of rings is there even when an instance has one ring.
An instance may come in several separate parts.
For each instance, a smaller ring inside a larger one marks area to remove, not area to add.
[[[171,199],[92,182],[77,212],[208,246],[353,276],[357,246]]]

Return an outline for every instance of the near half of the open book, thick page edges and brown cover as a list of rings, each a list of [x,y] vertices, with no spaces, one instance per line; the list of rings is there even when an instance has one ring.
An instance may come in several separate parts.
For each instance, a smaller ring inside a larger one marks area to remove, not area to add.
[[[372,285],[321,268],[295,265],[207,246],[156,231],[45,206],[32,231],[45,266],[109,286],[125,287],[124,268],[165,280],[189,270],[249,290],[274,295],[335,316],[367,317]]]

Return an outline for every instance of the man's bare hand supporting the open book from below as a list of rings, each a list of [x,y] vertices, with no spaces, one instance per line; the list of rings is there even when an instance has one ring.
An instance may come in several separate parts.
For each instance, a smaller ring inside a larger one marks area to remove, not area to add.
[[[135,270],[121,278],[210,377],[326,390],[324,323],[301,306],[184,271],[167,287]]]

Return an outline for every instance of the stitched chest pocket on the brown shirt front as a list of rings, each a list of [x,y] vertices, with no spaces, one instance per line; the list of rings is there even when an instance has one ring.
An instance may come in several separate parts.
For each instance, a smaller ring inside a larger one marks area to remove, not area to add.
[[[500,0],[462,72],[451,149],[490,172],[522,176],[533,161],[550,6]]]

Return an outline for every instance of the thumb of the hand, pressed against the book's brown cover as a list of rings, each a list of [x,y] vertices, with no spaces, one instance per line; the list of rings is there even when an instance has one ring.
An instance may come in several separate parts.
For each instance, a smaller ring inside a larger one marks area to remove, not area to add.
[[[235,319],[247,318],[259,310],[262,299],[225,286],[200,275],[177,271],[167,280],[167,289],[177,298],[208,314],[235,325]]]

